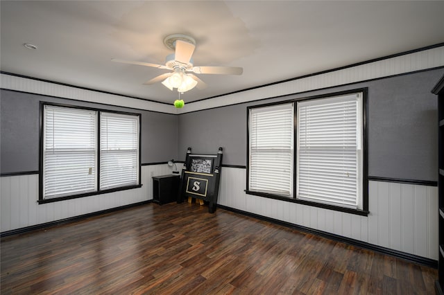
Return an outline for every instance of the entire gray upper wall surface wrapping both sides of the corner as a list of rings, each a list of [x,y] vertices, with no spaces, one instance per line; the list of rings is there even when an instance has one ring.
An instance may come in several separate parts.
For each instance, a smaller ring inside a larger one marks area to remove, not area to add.
[[[247,106],[368,87],[368,175],[436,181],[437,99],[430,90],[443,73],[436,69],[179,116],[2,89],[0,172],[38,170],[40,100],[142,114],[142,163],[184,161],[187,147],[207,154],[223,147],[225,165],[246,166]]]

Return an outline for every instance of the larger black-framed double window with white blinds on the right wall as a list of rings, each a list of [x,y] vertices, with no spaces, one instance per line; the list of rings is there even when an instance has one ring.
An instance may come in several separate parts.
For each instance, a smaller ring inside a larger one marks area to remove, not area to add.
[[[246,192],[367,215],[366,93],[248,107]]]

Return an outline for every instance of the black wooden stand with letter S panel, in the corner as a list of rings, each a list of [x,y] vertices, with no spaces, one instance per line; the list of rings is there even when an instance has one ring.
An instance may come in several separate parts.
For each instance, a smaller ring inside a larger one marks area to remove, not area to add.
[[[185,198],[191,203],[192,198],[199,200],[200,205],[208,202],[208,212],[216,211],[219,195],[219,181],[222,166],[222,147],[217,154],[191,154],[188,147],[187,158],[182,168],[178,203]]]

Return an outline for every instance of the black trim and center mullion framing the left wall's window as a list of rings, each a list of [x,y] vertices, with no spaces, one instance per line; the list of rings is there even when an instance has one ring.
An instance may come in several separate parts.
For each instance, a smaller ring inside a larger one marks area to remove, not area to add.
[[[44,125],[44,106],[45,105],[51,105],[54,107],[67,107],[67,108],[71,108],[71,109],[85,109],[85,110],[89,110],[89,111],[96,111],[97,112],[97,117],[100,118],[100,114],[101,112],[107,112],[107,113],[114,113],[114,114],[123,114],[123,115],[130,115],[130,116],[137,116],[139,118],[139,171],[138,171],[138,184],[137,185],[131,185],[131,186],[121,186],[118,188],[110,188],[110,189],[105,189],[105,190],[101,190],[100,186],[99,186],[99,181],[100,181],[100,120],[98,119],[98,121],[96,122],[96,132],[97,132],[97,136],[96,136],[96,149],[97,149],[97,178],[96,178],[96,182],[97,182],[97,190],[95,190],[94,192],[88,192],[88,193],[80,193],[80,194],[75,194],[75,195],[67,195],[67,196],[62,196],[62,197],[53,197],[50,199],[44,199],[44,192],[43,192],[43,181],[44,181],[44,175],[43,175],[43,165],[44,165],[44,159],[43,159],[43,150],[44,150],[44,130],[43,130],[43,125]],[[67,199],[77,199],[80,197],[89,197],[89,196],[93,196],[93,195],[102,195],[102,194],[106,194],[106,193],[114,193],[120,190],[131,190],[134,188],[141,188],[142,187],[142,151],[141,151],[141,142],[142,142],[142,131],[141,131],[141,126],[142,126],[142,115],[141,114],[137,114],[137,113],[130,113],[127,111],[113,111],[110,109],[99,109],[99,108],[94,108],[94,107],[84,107],[84,106],[79,106],[79,105],[67,105],[67,104],[62,104],[62,103],[57,103],[57,102],[45,102],[45,101],[40,101],[40,117],[39,117],[39,199],[37,200],[38,204],[47,204],[47,203],[52,203],[52,202],[59,202],[59,201],[65,201]]]

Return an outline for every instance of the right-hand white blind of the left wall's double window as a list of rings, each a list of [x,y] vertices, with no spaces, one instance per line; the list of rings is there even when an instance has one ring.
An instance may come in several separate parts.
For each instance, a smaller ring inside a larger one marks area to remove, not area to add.
[[[139,184],[139,116],[101,113],[100,189]]]

